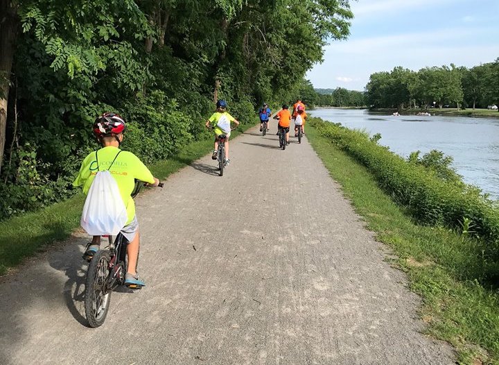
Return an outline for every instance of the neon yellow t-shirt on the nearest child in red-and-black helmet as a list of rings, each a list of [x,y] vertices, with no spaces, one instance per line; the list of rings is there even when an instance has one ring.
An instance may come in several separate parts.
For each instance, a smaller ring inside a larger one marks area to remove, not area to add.
[[[117,147],[107,146],[100,148],[96,152],[89,153],[82,162],[80,172],[78,172],[78,176],[73,181],[73,186],[82,186],[83,192],[87,194],[97,174],[97,169],[99,171],[107,170],[119,151],[121,150]],[[127,208],[128,221],[126,224],[129,224],[135,217],[135,203],[132,196],[130,196],[135,187],[134,179],[154,184],[154,177],[146,165],[136,155],[128,151],[121,151],[118,158],[112,164],[110,173],[118,184],[121,198]]]

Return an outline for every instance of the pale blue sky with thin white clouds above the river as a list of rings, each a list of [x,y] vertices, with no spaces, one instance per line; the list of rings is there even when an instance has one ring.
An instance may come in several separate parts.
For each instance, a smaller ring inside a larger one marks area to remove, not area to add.
[[[308,71],[314,87],[364,90],[402,66],[473,67],[499,58],[499,0],[358,0],[349,39],[331,42]]]

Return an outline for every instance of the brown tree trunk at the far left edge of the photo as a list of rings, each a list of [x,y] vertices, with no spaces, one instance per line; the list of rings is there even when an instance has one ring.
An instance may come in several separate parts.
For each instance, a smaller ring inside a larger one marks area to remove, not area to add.
[[[6,143],[8,94],[14,60],[15,40],[19,30],[17,6],[0,0],[0,171]]]

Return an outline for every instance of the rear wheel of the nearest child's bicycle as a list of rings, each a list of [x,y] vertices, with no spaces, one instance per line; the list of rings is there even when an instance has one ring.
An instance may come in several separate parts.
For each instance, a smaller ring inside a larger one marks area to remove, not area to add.
[[[91,328],[102,325],[106,319],[111,301],[111,291],[103,294],[103,286],[109,278],[110,253],[99,250],[92,258],[85,282],[85,316]]]

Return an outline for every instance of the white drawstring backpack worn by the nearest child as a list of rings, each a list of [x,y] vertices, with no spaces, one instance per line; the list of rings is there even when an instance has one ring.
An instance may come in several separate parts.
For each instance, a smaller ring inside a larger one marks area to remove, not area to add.
[[[125,203],[121,198],[118,184],[112,177],[110,169],[99,171],[96,151],[97,174],[90,185],[80,224],[91,236],[117,235],[128,220]]]

